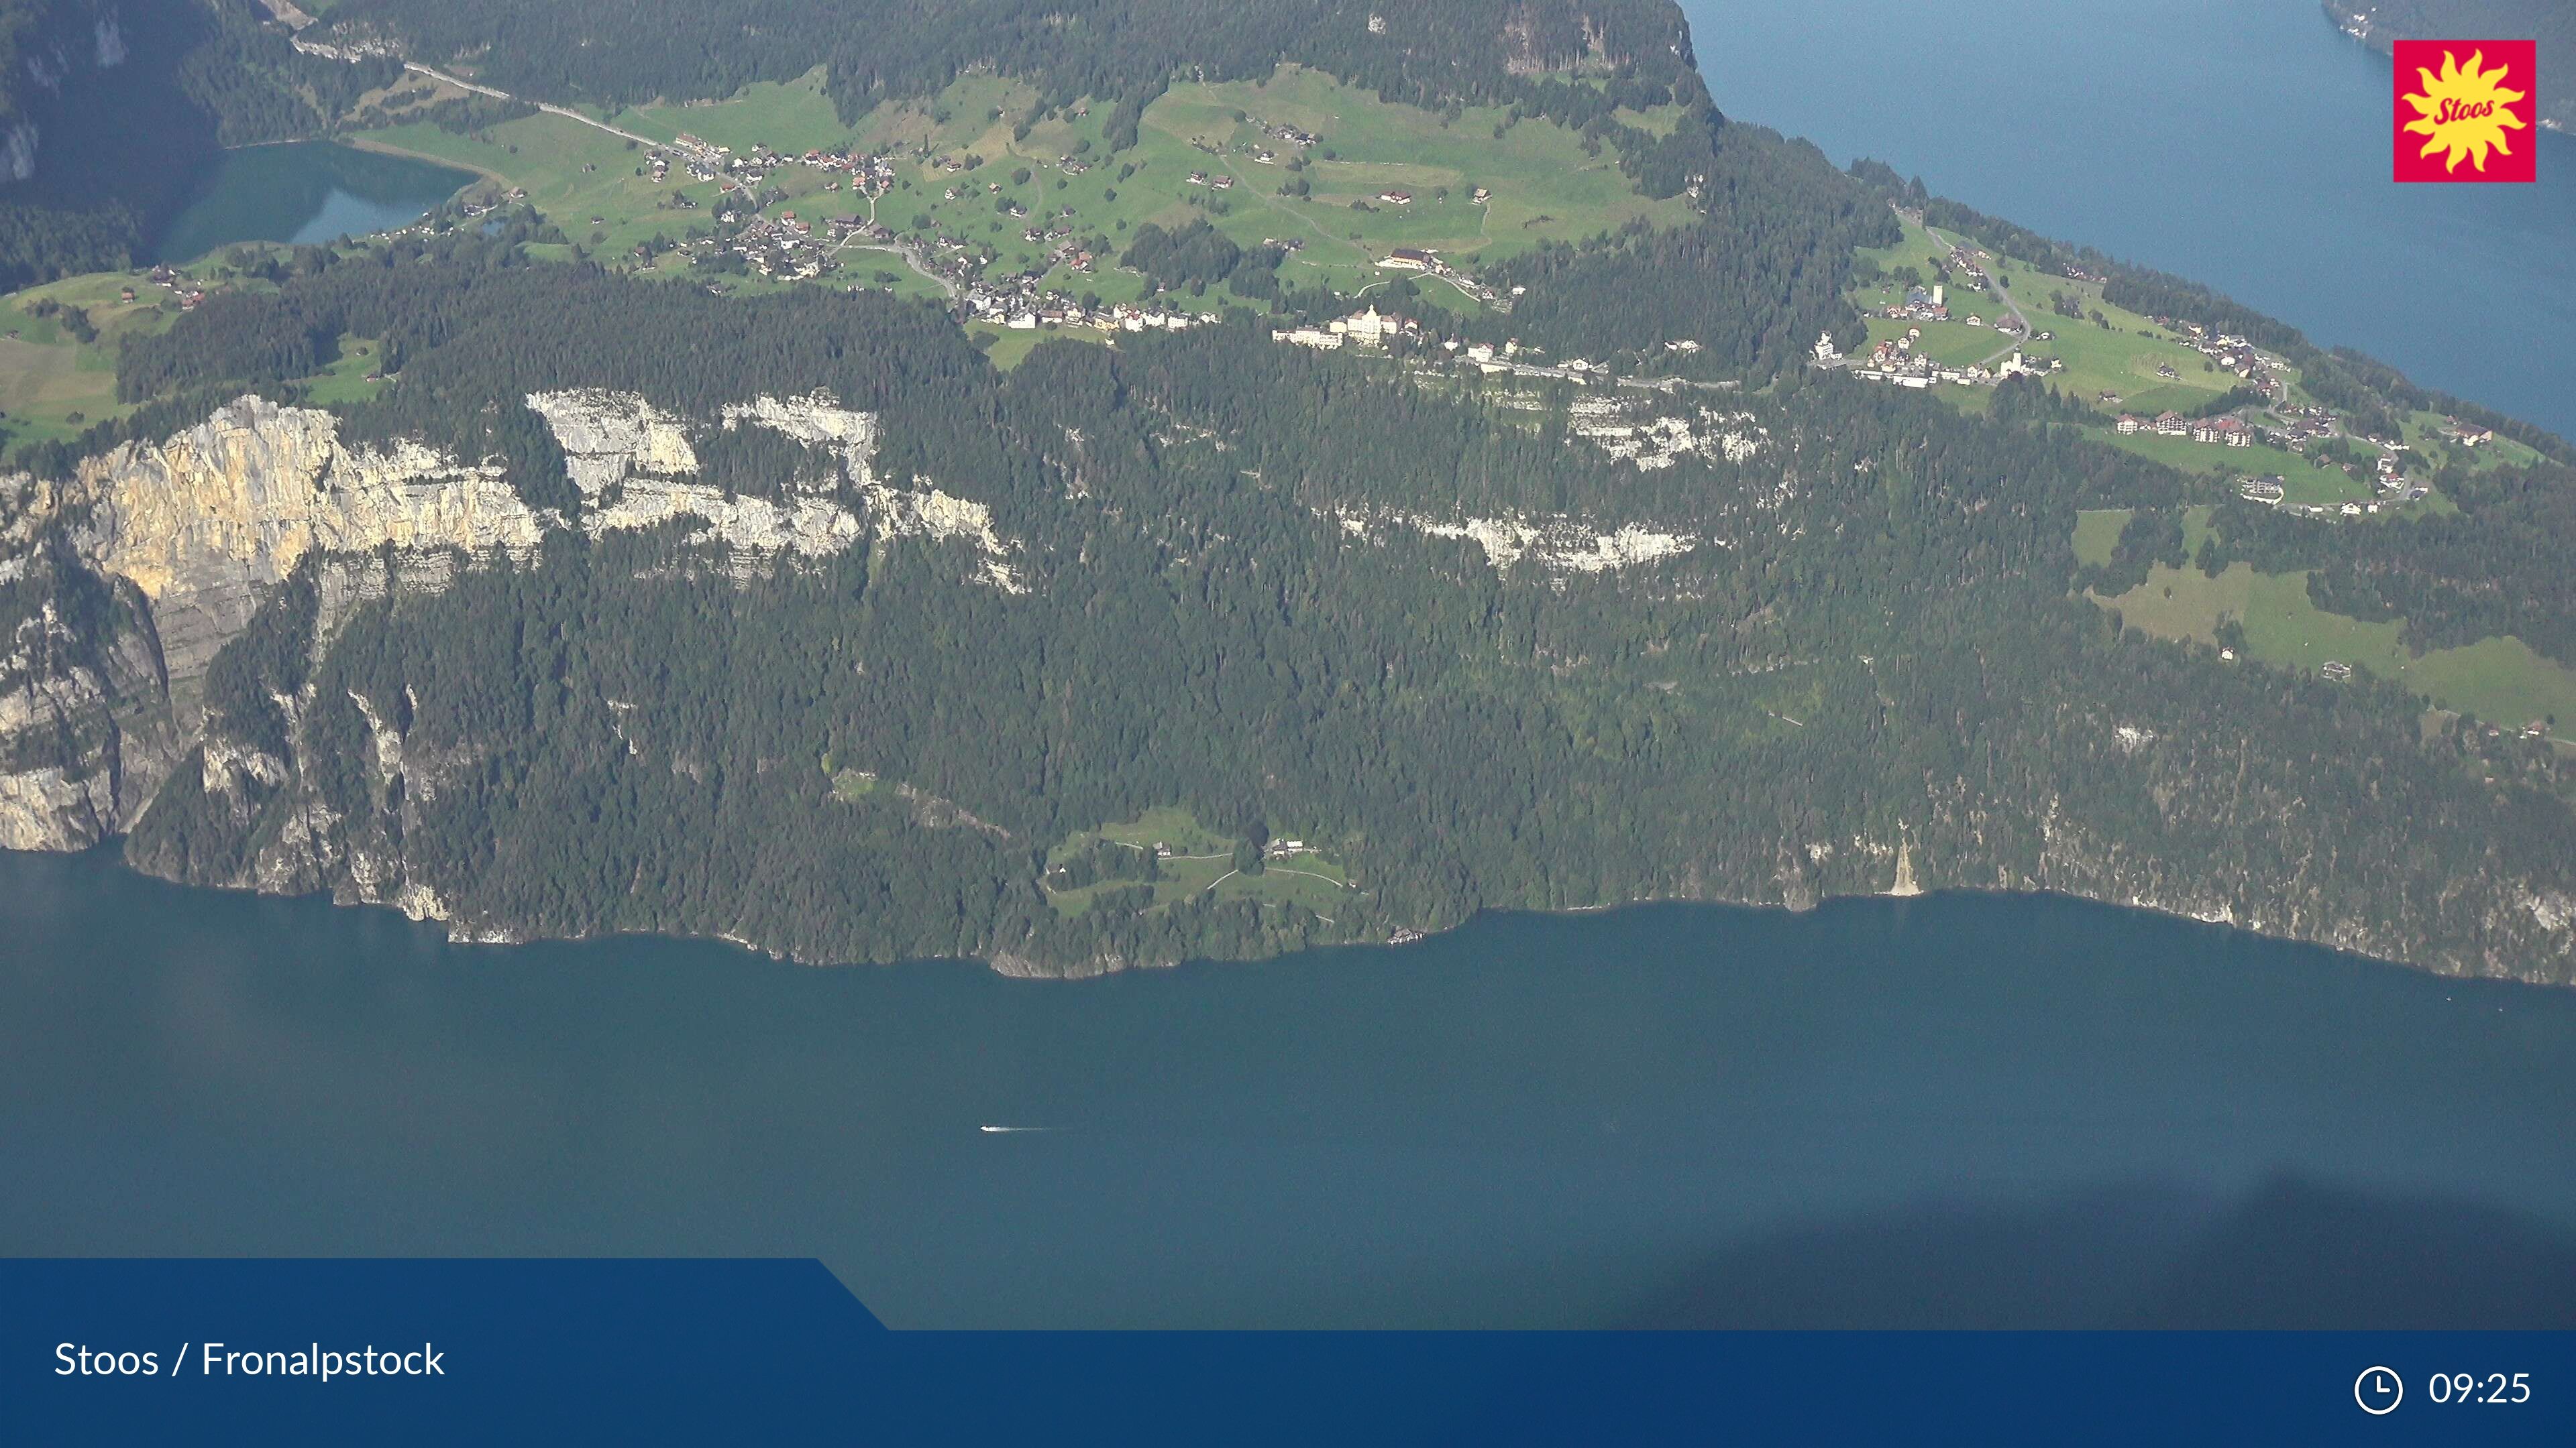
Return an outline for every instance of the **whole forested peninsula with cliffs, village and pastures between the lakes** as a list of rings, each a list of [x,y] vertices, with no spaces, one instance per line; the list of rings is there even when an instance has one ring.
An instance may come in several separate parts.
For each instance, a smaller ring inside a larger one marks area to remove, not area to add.
[[[255,23],[376,67],[317,129],[495,180],[13,301],[113,399],[8,420],[0,845],[1051,976],[2048,889],[2576,982],[2548,727],[2107,603],[2287,569],[2576,665],[2543,430],[1723,116],[1662,0],[595,10]],[[706,142],[778,116],[855,139]],[[2501,441],[2324,523],[2048,376],[1816,366],[1924,227],[2087,289],[2061,327],[2244,332],[2354,438]]]

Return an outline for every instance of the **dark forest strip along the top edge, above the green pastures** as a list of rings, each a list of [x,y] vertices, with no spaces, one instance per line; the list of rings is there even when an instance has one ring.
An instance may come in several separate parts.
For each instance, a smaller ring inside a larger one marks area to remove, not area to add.
[[[1051,103],[1133,108],[1182,72],[1280,62],[1406,100],[1520,98],[1551,75],[1698,85],[1687,26],[1662,0],[348,0],[330,31],[600,103],[732,95],[824,64],[842,119],[971,70],[1033,80]]]

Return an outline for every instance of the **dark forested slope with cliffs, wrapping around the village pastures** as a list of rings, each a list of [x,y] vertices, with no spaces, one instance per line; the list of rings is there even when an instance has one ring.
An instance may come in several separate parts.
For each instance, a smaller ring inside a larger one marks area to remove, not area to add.
[[[1234,314],[1005,371],[878,291],[536,263],[523,214],[296,250],[129,338],[134,412],[0,479],[0,845],[124,835],[173,879],[469,938],[1038,974],[1484,907],[1971,886],[2576,979],[2553,752],[2499,768],[2396,685],[2123,629],[2079,593],[2102,569],[2076,513],[2213,484],[2038,381],[1968,415],[1803,366],[1860,330],[1844,283],[1896,234],[1888,178],[1708,108],[1669,8],[1059,10],[350,0],[330,23],[600,98],[799,54],[837,57],[860,108],[974,64],[1139,106],[1180,67],[1280,59],[1566,113],[1664,88],[1682,116],[1615,165],[1654,157],[1636,183],[1690,224],[1528,250],[1510,317],[1458,330],[1705,361],[1525,381]],[[616,59],[616,15],[696,39]],[[1146,21],[1193,18],[1146,49]],[[896,62],[904,36],[943,39]],[[358,345],[381,386],[314,405]],[[2112,567],[2161,533],[2136,544]]]

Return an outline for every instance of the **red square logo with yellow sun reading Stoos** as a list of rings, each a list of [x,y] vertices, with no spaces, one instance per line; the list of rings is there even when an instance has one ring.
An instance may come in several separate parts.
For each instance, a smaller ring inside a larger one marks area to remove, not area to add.
[[[2537,41],[2398,41],[2398,180],[2540,180]]]

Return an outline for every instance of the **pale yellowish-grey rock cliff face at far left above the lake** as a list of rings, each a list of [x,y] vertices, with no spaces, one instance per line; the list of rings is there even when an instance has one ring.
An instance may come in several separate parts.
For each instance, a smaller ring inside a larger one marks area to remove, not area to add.
[[[989,510],[884,484],[871,469],[876,420],[827,397],[760,397],[719,420],[837,459],[837,479],[783,497],[696,482],[690,423],[641,397],[551,392],[528,405],[567,453],[582,495],[572,520],[531,508],[500,466],[407,441],[353,446],[330,412],[260,397],[157,443],[88,459],[64,484],[0,479],[0,845],[77,850],[118,835],[183,757],[214,796],[252,801],[281,788],[289,760],[209,732],[201,691],[224,644],[307,562],[319,593],[317,654],[366,598],[435,590],[459,567],[526,564],[564,528],[598,536],[693,520],[696,538],[721,549],[737,577],[868,536],[956,538],[984,554],[992,585],[1020,587],[1010,567],[1018,544],[994,533]],[[399,739],[379,763],[386,778],[402,773]],[[270,840],[240,884],[327,884],[325,863],[294,858],[296,843],[317,835],[312,824]],[[327,868],[361,881],[399,873],[366,858]]]

